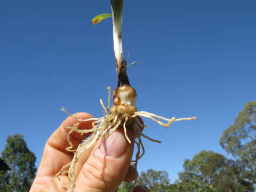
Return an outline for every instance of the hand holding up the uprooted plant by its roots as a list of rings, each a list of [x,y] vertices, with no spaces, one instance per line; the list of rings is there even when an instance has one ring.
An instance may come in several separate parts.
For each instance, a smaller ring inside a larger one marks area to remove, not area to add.
[[[76,113],[79,119],[88,119],[92,115]],[[78,123],[75,118],[68,117],[61,123],[59,128],[47,140],[44,148],[41,164],[39,165],[36,178],[30,192],[66,192],[69,189],[67,175],[60,175],[60,180],[54,175],[62,166],[68,164],[73,158],[73,153],[66,150],[69,147],[67,135],[69,129]],[[79,129],[91,129],[92,122],[79,122]],[[132,140],[132,134],[127,129],[127,134]],[[70,141],[73,149],[76,149],[90,134],[71,133]],[[124,181],[133,181],[138,177],[137,170],[131,166],[133,142],[129,144],[123,132],[117,130],[110,135],[95,142],[78,159],[75,166],[76,192],[114,192]],[[146,192],[145,188],[137,186],[133,192]]]

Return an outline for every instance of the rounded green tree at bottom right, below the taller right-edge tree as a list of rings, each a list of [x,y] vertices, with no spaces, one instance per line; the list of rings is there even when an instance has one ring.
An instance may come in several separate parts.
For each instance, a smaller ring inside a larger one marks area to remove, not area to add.
[[[202,191],[254,191],[253,184],[242,176],[243,167],[213,151],[201,151],[191,161],[186,159],[183,167],[178,183],[185,191],[193,186]]]

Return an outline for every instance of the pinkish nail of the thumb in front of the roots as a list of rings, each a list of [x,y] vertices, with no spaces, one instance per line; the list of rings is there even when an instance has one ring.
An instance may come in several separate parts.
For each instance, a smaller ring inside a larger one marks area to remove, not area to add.
[[[128,145],[123,133],[115,131],[112,133],[109,138],[102,138],[100,144],[100,150],[104,155],[111,157],[121,157],[124,154],[124,151]]]

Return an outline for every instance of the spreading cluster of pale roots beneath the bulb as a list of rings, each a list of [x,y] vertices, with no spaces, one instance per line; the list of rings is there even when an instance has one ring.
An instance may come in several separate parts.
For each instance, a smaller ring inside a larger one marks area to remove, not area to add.
[[[140,117],[147,117],[150,118],[152,121],[158,123],[159,125],[165,126],[166,128],[171,125],[174,121],[183,121],[183,120],[191,120],[196,119],[196,117],[189,117],[189,118],[175,118],[172,117],[171,119],[165,118],[162,116],[155,115],[153,113],[148,113],[147,111],[137,111],[137,108],[134,106],[129,105],[114,105],[110,109],[110,87],[108,87],[108,106],[106,107],[102,100],[100,100],[101,106],[104,109],[104,115],[100,118],[89,118],[89,119],[78,119],[71,114],[68,113],[68,111],[65,108],[61,108],[62,111],[65,111],[70,117],[75,118],[78,122],[86,122],[86,121],[93,121],[92,122],[92,129],[78,129],[79,123],[74,124],[74,126],[66,127],[70,129],[68,132],[68,143],[69,147],[66,148],[68,151],[72,151],[74,153],[74,157],[70,163],[63,166],[62,169],[55,174],[55,177],[59,178],[59,175],[61,174],[68,174],[68,178],[70,181],[70,192],[73,192],[75,189],[75,165],[78,161],[78,158],[84,153],[84,151],[88,148],[90,148],[95,141],[100,139],[103,135],[105,135],[106,138],[109,137],[112,133],[114,133],[118,127],[123,127],[124,134],[129,143],[131,143],[130,138],[127,135],[126,128],[129,125],[129,127],[133,127],[133,133],[135,134],[134,140],[135,145],[137,145],[137,153],[135,155],[135,159],[132,161],[134,163],[134,168],[137,169],[138,161],[139,159],[145,154],[145,147],[143,146],[143,143],[141,141],[141,137],[144,137],[150,141],[161,143],[161,141],[152,139],[148,137],[147,135],[143,134],[141,132],[142,127],[148,127],[146,125],[142,125],[139,121],[138,116]],[[166,121],[166,123],[161,122],[160,120]],[[92,133],[92,135],[87,138],[84,142],[80,143],[77,149],[73,150],[73,143],[70,141],[70,134],[72,132],[77,132],[80,134],[84,133]],[[135,181],[136,182],[136,181]],[[135,184],[134,182],[134,184]]]

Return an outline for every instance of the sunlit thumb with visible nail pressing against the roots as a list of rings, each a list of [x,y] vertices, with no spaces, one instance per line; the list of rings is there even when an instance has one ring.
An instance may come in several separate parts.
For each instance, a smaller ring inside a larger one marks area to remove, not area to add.
[[[115,191],[129,170],[132,153],[133,142],[130,144],[121,130],[115,131],[108,139],[103,137],[83,165],[75,191]]]

